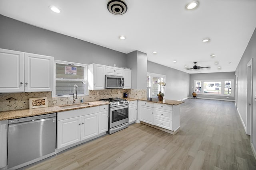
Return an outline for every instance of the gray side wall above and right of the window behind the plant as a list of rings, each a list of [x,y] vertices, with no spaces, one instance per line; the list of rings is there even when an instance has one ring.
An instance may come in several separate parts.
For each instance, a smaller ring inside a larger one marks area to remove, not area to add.
[[[188,73],[150,61],[148,61],[148,72],[166,75],[166,99],[180,100],[189,96],[190,76]]]

